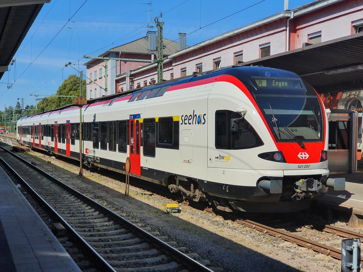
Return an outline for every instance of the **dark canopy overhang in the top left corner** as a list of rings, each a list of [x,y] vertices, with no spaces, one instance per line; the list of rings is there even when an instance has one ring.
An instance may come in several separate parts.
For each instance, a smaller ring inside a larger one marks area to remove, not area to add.
[[[0,79],[44,3],[50,0],[0,1]]]

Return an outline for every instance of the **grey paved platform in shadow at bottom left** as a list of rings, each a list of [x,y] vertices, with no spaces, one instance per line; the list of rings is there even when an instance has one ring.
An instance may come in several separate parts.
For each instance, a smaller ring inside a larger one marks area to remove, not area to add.
[[[0,252],[1,271],[81,272],[1,168]]]

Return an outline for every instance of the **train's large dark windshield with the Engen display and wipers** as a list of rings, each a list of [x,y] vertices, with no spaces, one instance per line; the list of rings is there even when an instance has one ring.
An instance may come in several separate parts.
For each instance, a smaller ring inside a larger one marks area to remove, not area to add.
[[[253,95],[276,141],[323,140],[323,116],[314,89],[300,78],[253,77]]]

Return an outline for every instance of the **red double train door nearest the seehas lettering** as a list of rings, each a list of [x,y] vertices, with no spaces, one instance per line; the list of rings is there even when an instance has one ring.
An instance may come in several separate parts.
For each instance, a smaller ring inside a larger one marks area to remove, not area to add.
[[[129,145],[130,145],[130,163],[131,163],[130,173],[140,175],[140,141],[141,141],[140,121],[135,119],[130,119],[129,122],[130,122]]]

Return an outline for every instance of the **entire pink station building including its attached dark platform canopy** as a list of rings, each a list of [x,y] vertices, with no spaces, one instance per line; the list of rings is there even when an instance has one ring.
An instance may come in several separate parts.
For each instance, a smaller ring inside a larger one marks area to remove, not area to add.
[[[231,65],[293,71],[315,88],[326,108],[358,112],[358,152],[362,150],[363,0],[316,0],[193,46],[186,46],[186,37],[179,33],[178,43],[164,39],[164,80]],[[109,61],[107,95],[157,79],[156,63],[136,62],[137,58],[153,58],[156,48],[147,47],[147,42],[155,39],[152,32],[99,55],[135,59]],[[104,62],[92,59],[85,65],[89,77],[104,86]],[[95,90],[97,86],[89,82],[87,99],[105,95]]]

